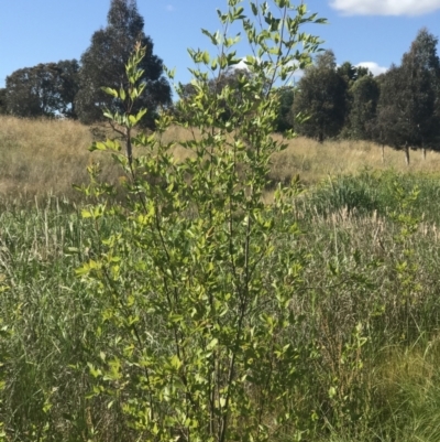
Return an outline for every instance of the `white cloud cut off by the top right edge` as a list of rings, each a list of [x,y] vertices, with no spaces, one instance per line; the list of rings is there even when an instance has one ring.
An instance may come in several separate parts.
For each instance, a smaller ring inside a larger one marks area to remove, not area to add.
[[[346,15],[422,15],[440,9],[440,0],[331,0]]]

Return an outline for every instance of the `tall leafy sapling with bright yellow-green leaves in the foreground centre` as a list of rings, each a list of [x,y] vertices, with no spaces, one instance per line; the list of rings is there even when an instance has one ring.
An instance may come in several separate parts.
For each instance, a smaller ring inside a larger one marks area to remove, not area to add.
[[[305,257],[277,247],[299,234],[293,191],[279,188],[268,206],[262,194],[270,158],[284,148],[271,137],[275,82],[310,60],[319,40],[298,29],[320,20],[304,6],[275,3],[279,17],[266,3],[251,3],[254,23],[240,1],[230,0],[229,10],[219,11],[223,33],[204,31],[220,55],[189,51],[204,71],[191,69],[195,93],[179,104],[200,132],[180,142],[187,160],[177,163],[174,143],[162,141],[173,122],[165,112],[156,133],[134,138],[129,131],[140,114],[106,112],[142,155],[120,152],[114,141],[92,147],[113,152],[128,177],[123,206],[105,202],[108,186],[95,175],[86,190],[99,202],[82,216],[97,226],[100,246],[77,274],[101,305],[97,333],[116,336],[100,348],[101,362],[89,366],[94,395],[107,396],[109,407],[118,403],[143,439],[265,441],[288,431],[300,440],[310,425],[299,420],[294,397],[297,358],[312,346],[290,342],[302,321],[289,305]],[[250,75],[238,73],[233,88],[212,88],[205,69],[219,80],[239,62],[239,37],[228,35],[235,22],[257,56],[246,58]],[[123,103],[141,95],[144,51],[136,46],[129,60],[128,87],[105,88],[107,94]],[[112,218],[121,228],[103,235],[101,224]]]

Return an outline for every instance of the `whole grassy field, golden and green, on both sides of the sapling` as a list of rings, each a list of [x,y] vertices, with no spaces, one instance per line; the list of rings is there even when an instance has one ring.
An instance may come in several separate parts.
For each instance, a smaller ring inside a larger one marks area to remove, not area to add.
[[[89,398],[87,364],[108,336],[75,277],[94,237],[72,183],[88,180],[94,137],[72,121],[0,118],[0,440],[138,440],[109,398]],[[307,258],[292,300],[307,319],[292,342],[316,349],[298,359],[302,441],[440,440],[440,155],[413,157],[407,168],[386,149],[383,164],[376,145],[297,139],[274,158],[274,181],[299,173],[306,185],[295,201],[302,235],[279,244]],[[403,204],[396,190],[415,187]]]

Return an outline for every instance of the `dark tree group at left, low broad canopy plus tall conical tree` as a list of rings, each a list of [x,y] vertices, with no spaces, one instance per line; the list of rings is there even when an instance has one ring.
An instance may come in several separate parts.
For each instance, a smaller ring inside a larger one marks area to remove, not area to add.
[[[145,35],[144,20],[135,0],[111,0],[106,28],[96,31],[80,61],[38,64],[13,72],[0,89],[0,114],[18,117],[77,118],[84,123],[102,119],[102,108],[121,111],[120,105],[101,90],[106,85],[125,85],[125,63],[136,42],[146,48],[142,82],[146,93],[138,107],[146,107],[146,125],[153,125],[155,110],[169,106],[172,94],[163,75],[163,62]],[[132,109],[135,111],[135,109]]]

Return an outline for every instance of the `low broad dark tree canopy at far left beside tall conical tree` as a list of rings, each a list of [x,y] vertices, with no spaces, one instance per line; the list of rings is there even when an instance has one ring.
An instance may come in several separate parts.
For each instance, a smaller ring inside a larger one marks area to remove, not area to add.
[[[19,117],[75,117],[78,71],[76,60],[66,60],[13,72],[7,77],[8,114]]]

